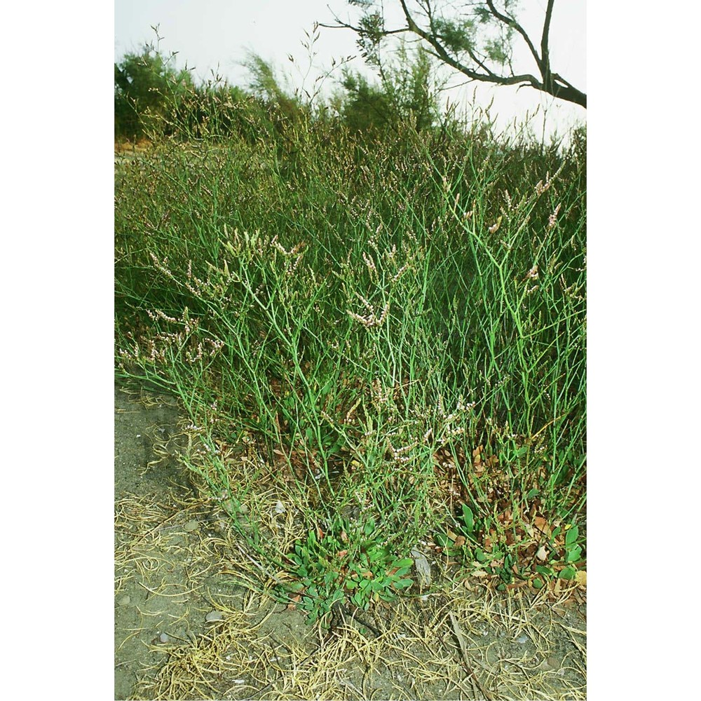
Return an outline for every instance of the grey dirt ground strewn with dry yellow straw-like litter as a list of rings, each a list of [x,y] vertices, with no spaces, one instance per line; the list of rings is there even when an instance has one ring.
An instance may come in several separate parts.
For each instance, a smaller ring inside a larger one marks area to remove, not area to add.
[[[585,606],[447,585],[306,625],[177,462],[178,411],[115,388],[115,698],[585,699]],[[237,576],[234,576],[234,575]]]

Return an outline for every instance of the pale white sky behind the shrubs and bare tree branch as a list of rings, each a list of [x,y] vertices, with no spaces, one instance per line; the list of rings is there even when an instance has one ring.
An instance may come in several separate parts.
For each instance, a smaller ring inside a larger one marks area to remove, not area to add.
[[[397,0],[386,0],[386,16],[395,20],[393,25],[403,26],[397,13]],[[544,0],[524,0],[519,18],[531,36],[538,37],[542,27]],[[324,74],[332,64],[332,58],[340,60],[348,55],[358,56],[351,67],[364,70],[364,62],[358,55],[355,34],[349,29],[325,29],[320,27],[320,37],[314,45],[316,53],[311,71],[308,51],[301,46],[306,41],[304,32],[311,34],[313,23],[333,23],[333,13],[347,19],[348,13],[357,11],[345,0],[116,0],[114,4],[114,60],[118,61],[130,51],[138,51],[144,43],[155,40],[151,25],[160,25],[163,37],[161,50],[168,54],[177,51],[177,66],[194,67],[199,79],[211,77],[215,70],[230,83],[245,87],[247,73],[241,63],[247,50],[254,51],[278,68],[278,75],[290,79],[294,88],[304,86],[312,90],[315,78]],[[537,45],[538,41],[536,41]],[[559,0],[554,6],[550,30],[551,64],[553,69],[586,92],[586,1]],[[516,42],[515,48],[522,46]],[[287,55],[292,54],[294,64]],[[517,71],[537,75],[527,50],[515,53]],[[461,74],[451,74],[451,85],[463,83]],[[334,87],[327,81],[326,87]],[[547,128],[564,132],[573,123],[585,121],[586,110],[578,105],[554,100],[532,88],[507,88],[470,83],[451,91],[451,100],[468,104],[476,92],[477,104],[486,105],[494,99],[492,116],[505,125],[517,119],[521,122],[526,112],[533,112],[538,105],[545,111]],[[543,114],[541,112],[541,114]],[[542,122],[533,121],[538,133]]]

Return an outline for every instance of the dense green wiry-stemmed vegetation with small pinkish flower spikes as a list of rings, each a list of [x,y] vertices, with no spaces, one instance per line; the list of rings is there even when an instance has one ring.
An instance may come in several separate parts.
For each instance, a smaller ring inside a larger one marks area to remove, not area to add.
[[[407,108],[377,138],[360,83],[312,109],[258,69],[267,95],[189,87],[118,167],[118,376],[179,397],[184,465],[310,620],[415,590],[418,543],[502,588],[576,578],[585,132]]]

